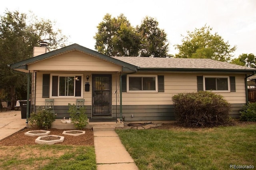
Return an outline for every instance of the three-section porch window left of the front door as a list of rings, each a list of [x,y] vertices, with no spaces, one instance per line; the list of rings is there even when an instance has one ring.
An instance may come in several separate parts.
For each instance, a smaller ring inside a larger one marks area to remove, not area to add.
[[[51,75],[52,97],[82,97],[82,75]]]

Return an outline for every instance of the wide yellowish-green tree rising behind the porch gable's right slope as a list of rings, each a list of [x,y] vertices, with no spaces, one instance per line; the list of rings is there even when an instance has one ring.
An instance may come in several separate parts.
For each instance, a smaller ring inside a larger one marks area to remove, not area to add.
[[[124,14],[117,18],[106,14],[97,28],[94,36],[97,51],[110,56],[137,55],[139,36]]]

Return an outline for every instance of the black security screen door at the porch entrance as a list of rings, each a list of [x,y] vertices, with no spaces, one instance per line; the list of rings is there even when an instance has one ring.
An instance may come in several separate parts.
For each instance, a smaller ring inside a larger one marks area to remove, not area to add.
[[[111,115],[111,75],[92,75],[92,115]]]

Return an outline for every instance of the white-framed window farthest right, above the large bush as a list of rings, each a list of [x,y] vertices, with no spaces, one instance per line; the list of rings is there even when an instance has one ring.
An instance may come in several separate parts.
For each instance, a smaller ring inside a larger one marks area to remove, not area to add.
[[[204,90],[209,91],[230,91],[228,76],[204,76]]]

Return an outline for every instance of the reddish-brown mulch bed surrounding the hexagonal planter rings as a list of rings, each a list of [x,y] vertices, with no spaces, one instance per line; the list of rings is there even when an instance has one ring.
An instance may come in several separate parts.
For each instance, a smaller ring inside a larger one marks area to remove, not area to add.
[[[8,136],[7,138],[4,138],[0,141],[0,146],[24,146],[24,145],[35,145],[37,144],[35,142],[36,138],[38,136],[26,136],[24,133],[28,132],[30,130],[40,130],[40,129],[34,129],[34,128],[24,128],[20,130],[19,132],[16,132],[12,134],[11,136]],[[41,129],[42,130],[42,129]],[[59,145],[76,145],[76,146],[94,146],[94,140],[93,140],[93,131],[91,129],[83,129],[85,131],[85,134],[81,134],[80,136],[70,136],[62,134],[64,130],[72,130],[72,129],[55,129],[51,128],[48,129],[50,132],[49,135],[58,135],[58,136],[64,136],[63,142],[58,142],[56,144]]]

